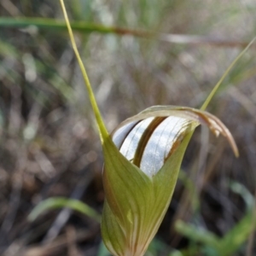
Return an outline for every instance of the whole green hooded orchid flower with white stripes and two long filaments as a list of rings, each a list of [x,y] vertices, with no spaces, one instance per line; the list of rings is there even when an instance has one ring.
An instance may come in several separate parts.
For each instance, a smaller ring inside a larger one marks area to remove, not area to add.
[[[113,255],[142,256],[169,207],[183,154],[195,128],[207,125],[216,136],[222,134],[238,156],[230,131],[217,117],[203,110],[253,41],[231,63],[201,110],[173,106],[147,108],[109,134],[79,56],[63,0],[60,1],[102,141],[105,160],[102,178],[106,193],[102,239]]]

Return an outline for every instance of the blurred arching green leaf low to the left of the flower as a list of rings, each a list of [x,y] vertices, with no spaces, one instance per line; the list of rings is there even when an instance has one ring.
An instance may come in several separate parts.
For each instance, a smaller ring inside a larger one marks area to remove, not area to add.
[[[75,200],[75,199],[68,199],[65,197],[52,197],[40,202],[38,206],[35,207],[32,210],[32,212],[29,214],[28,219],[30,221],[33,221],[45,211],[49,211],[51,209],[63,208],[63,207],[71,208],[74,211],[81,212],[84,215],[87,215],[90,218],[93,218],[94,220],[96,220],[96,222],[101,221],[101,216],[94,209],[87,206],[82,201]]]

